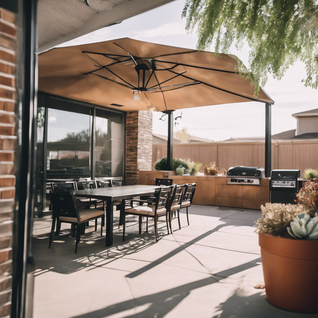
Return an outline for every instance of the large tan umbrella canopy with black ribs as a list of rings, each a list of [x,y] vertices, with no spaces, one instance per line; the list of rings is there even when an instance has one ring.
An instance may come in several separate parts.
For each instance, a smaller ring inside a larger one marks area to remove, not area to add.
[[[39,54],[38,89],[134,110],[273,100],[235,71],[235,57],[121,38]]]

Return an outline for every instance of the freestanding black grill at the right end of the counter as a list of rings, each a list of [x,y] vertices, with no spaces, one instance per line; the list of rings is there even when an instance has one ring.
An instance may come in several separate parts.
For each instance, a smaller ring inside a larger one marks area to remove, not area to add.
[[[301,188],[300,170],[272,170],[271,203],[295,204]]]

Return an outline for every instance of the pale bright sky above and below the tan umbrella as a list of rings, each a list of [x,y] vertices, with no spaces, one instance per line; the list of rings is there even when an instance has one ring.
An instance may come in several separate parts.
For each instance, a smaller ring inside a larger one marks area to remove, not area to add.
[[[86,34],[59,46],[80,45],[117,38],[133,38],[157,44],[196,49],[197,35],[187,34],[186,19],[181,18],[184,0],[175,0],[149,10],[120,24]],[[271,48],[264,48],[270,50]],[[213,52],[213,47],[210,49]],[[231,46],[230,53],[248,66],[247,45],[241,51]],[[272,106],[272,134],[296,128],[292,114],[318,108],[318,91],[305,87],[306,78],[301,62],[291,66],[280,80],[271,75],[264,90],[275,101]],[[174,112],[177,117],[181,110]],[[159,120],[160,112],[153,112],[153,133],[167,135],[168,123]],[[259,102],[235,103],[183,109],[182,119],[174,128],[187,128],[190,135],[222,141],[231,137],[255,137],[265,135],[265,104]]]

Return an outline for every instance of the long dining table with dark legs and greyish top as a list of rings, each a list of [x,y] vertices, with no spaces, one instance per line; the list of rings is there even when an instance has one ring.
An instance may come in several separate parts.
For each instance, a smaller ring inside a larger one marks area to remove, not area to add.
[[[75,197],[91,198],[106,202],[106,246],[113,245],[113,216],[114,201],[121,200],[121,219],[122,223],[125,216],[126,200],[140,196],[151,196],[160,186],[156,185],[125,185],[119,187],[97,188],[73,191]]]

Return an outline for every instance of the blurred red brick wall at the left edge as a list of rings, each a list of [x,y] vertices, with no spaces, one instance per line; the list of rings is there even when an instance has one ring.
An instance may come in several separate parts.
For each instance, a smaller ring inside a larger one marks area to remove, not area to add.
[[[15,15],[0,7],[0,317],[9,317],[15,197]]]

